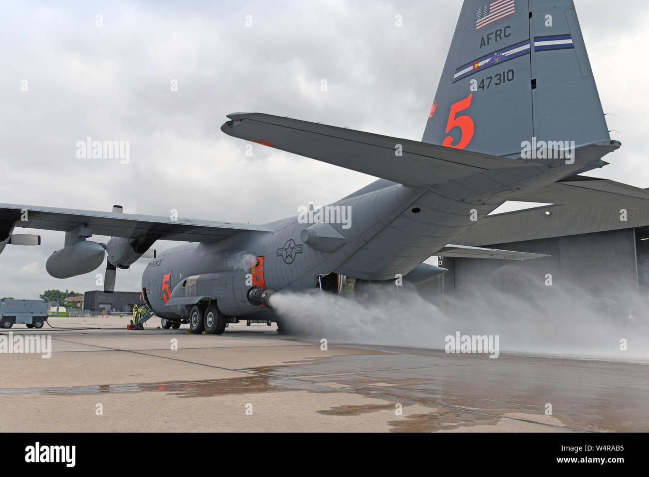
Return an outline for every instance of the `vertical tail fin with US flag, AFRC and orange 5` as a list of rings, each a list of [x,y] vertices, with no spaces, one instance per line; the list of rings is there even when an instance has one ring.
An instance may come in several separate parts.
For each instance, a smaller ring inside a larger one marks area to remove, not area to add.
[[[422,141],[520,157],[609,140],[572,0],[465,0]]]

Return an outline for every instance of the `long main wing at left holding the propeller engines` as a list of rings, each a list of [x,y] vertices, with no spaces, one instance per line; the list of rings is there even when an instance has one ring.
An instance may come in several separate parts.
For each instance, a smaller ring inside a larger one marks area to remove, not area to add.
[[[27,220],[21,220],[21,218],[27,218]],[[14,224],[16,227],[64,232],[83,226],[91,228],[93,235],[126,238],[146,236],[156,240],[179,240],[182,242],[218,242],[245,230],[272,230],[264,226],[212,222],[210,220],[188,218],[171,220],[170,217],[150,215],[0,204],[0,226],[5,225],[8,227],[4,228],[10,229]]]

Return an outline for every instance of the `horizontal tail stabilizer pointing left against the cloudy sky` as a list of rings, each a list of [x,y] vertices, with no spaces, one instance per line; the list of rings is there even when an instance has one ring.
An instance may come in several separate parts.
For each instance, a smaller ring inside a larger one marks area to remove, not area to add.
[[[262,113],[228,114],[225,134],[404,185],[434,185],[489,169],[537,165],[410,139]],[[401,156],[397,156],[398,148]]]

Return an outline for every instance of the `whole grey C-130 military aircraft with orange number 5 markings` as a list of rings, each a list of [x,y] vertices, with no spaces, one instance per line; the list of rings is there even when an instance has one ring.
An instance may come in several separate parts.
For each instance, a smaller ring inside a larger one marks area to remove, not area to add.
[[[308,290],[332,274],[421,282],[445,272],[423,263],[432,255],[542,257],[449,244],[507,200],[648,205],[643,189],[578,175],[606,165],[602,157],[620,143],[609,137],[572,0],[485,2],[463,4],[422,142],[262,113],[227,116],[225,134],[378,177],[326,206],[337,217],[348,211],[346,224],[310,220],[319,211],[255,226],[0,204],[0,251],[40,242],[12,235],[15,227],[64,231],[47,271],[92,272],[105,250],[112,292],[116,268],[129,268],[156,240],[190,242],[148,264],[143,299],[165,327],[189,320],[193,332],[221,334],[234,317],[269,319],[274,292]],[[112,238],[104,245],[92,235]]]

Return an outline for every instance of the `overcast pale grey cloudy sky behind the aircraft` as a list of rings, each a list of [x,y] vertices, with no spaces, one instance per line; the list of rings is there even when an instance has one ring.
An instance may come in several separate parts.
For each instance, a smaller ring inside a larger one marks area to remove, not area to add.
[[[649,5],[575,4],[604,111],[615,114],[607,116],[619,132],[612,137],[623,143],[606,157],[611,165],[589,175],[649,187]],[[247,157],[244,141],[219,130],[225,115],[259,111],[419,141],[460,7],[459,0],[5,1],[0,202],[103,211],[121,204],[126,213],[177,209],[186,218],[251,223],[334,202],[373,178],[260,145]],[[130,162],[79,159],[76,143],[86,137],[130,141]],[[0,297],[97,288],[105,265],[73,279],[49,277],[45,261],[64,237],[41,235],[40,247],[5,248]],[[140,288],[145,262],[119,270],[116,289]]]

